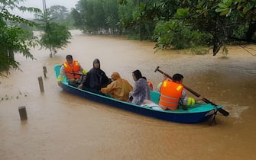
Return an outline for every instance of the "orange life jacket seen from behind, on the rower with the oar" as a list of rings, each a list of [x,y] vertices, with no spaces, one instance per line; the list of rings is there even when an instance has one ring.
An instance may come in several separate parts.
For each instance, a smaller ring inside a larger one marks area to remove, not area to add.
[[[165,80],[160,88],[159,106],[163,109],[177,110],[183,85]]]

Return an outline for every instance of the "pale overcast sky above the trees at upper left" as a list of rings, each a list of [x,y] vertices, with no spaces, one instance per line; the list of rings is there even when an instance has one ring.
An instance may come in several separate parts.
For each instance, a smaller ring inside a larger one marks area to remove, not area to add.
[[[50,8],[52,5],[62,5],[66,8],[75,8],[76,3],[79,0],[45,0],[47,8]],[[26,7],[40,8],[43,10],[43,0],[24,0],[21,5]],[[14,14],[20,15],[22,18],[34,18],[34,14],[27,12],[22,13],[21,11],[13,11]]]

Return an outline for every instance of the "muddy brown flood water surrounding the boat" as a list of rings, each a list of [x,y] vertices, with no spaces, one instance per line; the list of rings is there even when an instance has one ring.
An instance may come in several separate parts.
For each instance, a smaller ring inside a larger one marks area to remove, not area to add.
[[[50,51],[38,49],[31,50],[37,60],[17,55],[22,72],[0,79],[0,159],[256,158],[256,56],[239,46],[230,46],[227,57],[154,53],[151,42],[72,33],[71,43],[53,58]],[[248,50],[255,54],[256,46]],[[223,104],[230,115],[217,114],[212,126],[171,123],[76,97],[62,91],[53,72],[67,54],[88,70],[98,58],[108,76],[119,72],[131,85],[131,72],[140,69],[154,89],[163,78],[154,72],[157,66],[169,75],[180,72],[185,85]],[[20,120],[21,106],[26,107],[26,121]]]

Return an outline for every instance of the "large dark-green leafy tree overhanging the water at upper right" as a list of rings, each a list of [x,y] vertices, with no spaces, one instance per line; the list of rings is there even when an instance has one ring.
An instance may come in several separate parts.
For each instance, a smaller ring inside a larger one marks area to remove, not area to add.
[[[129,0],[120,2],[128,4]],[[153,3],[152,11],[143,8],[141,15],[144,17],[140,17],[156,20],[156,47],[173,46],[183,49],[186,46],[213,46],[212,52],[215,56],[225,44],[256,42],[254,1],[160,0]],[[226,52],[225,47],[222,52]]]

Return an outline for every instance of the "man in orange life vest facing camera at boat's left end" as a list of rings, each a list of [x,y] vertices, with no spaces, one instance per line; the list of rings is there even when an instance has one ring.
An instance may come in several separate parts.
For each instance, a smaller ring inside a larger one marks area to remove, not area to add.
[[[78,61],[73,60],[72,55],[67,55],[66,62],[63,62],[62,66],[60,67],[60,75],[57,78],[58,85],[60,85],[60,82],[63,82],[63,79],[66,77],[69,85],[77,87],[80,79],[79,73],[86,74],[86,69],[83,69]]]

